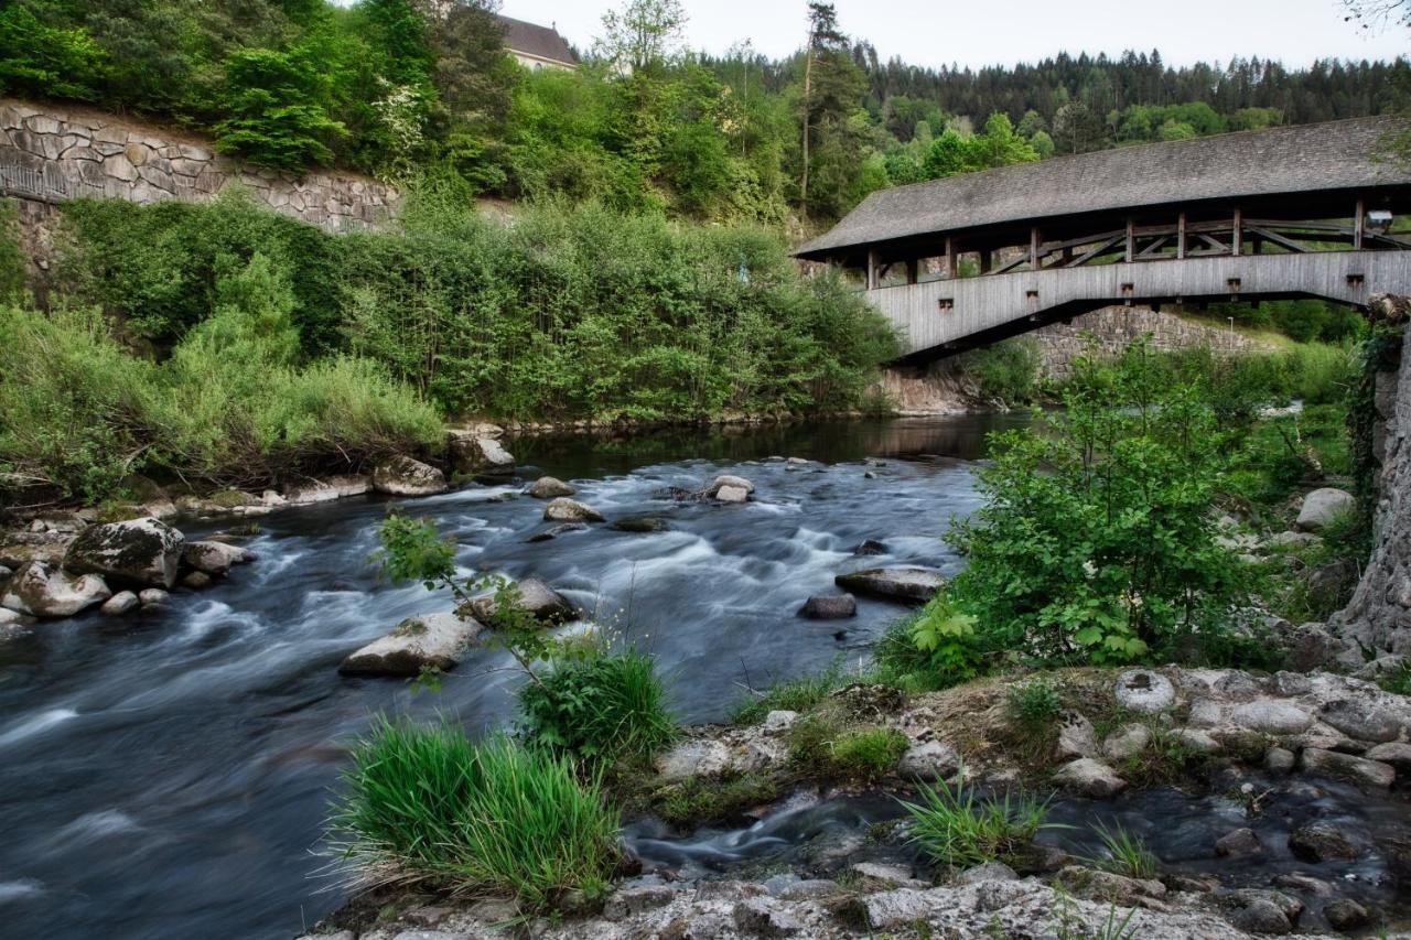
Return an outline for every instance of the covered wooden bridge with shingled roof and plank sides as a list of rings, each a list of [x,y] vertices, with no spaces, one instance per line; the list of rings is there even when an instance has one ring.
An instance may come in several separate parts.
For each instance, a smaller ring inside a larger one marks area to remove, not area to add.
[[[1369,117],[1147,144],[868,196],[797,257],[861,271],[910,360],[1112,303],[1411,292],[1411,167]]]

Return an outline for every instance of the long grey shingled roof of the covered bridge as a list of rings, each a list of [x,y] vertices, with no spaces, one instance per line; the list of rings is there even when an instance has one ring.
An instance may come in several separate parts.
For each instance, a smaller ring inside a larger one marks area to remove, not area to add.
[[[1373,161],[1394,117],[1271,127],[1102,150],[880,189],[799,257],[1078,213],[1208,199],[1411,183],[1395,161]]]

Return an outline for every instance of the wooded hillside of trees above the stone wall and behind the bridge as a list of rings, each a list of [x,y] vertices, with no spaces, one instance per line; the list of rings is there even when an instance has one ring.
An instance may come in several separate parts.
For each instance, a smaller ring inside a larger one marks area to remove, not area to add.
[[[0,11],[0,90],[176,120],[281,169],[406,181],[436,168],[509,198],[779,223],[1054,152],[1387,113],[1411,88],[1405,61],[882,64],[828,3],[809,4],[800,51],[773,61],[748,41],[718,58],[686,52],[680,4],[624,0],[576,72],[531,72],[504,54],[495,8],[13,0]]]

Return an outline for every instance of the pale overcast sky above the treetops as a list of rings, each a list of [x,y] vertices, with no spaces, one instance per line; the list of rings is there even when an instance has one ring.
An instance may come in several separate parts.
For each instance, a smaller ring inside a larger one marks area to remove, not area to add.
[[[557,23],[580,49],[602,11],[621,0],[502,0],[508,17]],[[722,52],[741,40],[772,58],[803,45],[804,0],[684,0],[687,44]],[[1411,54],[1411,32],[1366,35],[1343,21],[1339,0],[837,0],[838,21],[882,61],[913,65],[1013,65],[1057,52],[1161,51],[1173,65],[1259,55],[1285,65],[1318,58],[1391,59]]]

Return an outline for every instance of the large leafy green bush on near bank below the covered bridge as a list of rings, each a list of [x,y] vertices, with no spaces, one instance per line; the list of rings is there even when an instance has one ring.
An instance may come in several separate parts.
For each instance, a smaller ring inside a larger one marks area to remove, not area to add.
[[[985,504],[951,529],[968,567],[950,603],[989,648],[1127,662],[1215,629],[1245,589],[1209,507],[1228,457],[1195,384],[1167,384],[1144,344],[1079,357],[1065,411],[993,438]]]

